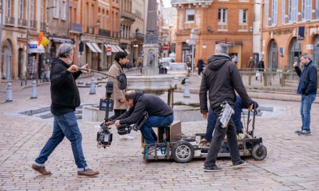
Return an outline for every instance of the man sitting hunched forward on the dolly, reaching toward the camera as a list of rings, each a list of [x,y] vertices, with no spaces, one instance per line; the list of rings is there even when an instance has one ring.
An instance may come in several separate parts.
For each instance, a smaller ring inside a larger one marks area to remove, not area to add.
[[[153,94],[129,90],[125,92],[124,96],[125,103],[130,106],[130,109],[118,118],[115,118],[115,122],[109,121],[107,124],[115,123],[116,126],[133,124],[146,111],[149,113],[149,118],[140,131],[147,144],[154,144],[156,140],[152,135],[152,128],[170,125],[174,120],[173,110],[162,99]],[[154,150],[155,146],[149,148],[149,152]]]

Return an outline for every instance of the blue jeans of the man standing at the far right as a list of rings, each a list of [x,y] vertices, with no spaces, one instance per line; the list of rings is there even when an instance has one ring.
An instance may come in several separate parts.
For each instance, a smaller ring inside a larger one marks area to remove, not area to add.
[[[301,97],[300,114],[302,121],[301,130],[310,131],[310,110],[311,104],[315,100],[316,94],[310,93],[309,95],[303,94]]]

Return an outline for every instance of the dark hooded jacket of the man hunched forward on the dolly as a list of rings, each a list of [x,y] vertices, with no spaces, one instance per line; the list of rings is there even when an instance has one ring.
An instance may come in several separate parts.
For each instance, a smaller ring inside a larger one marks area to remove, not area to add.
[[[138,121],[144,111],[147,111],[149,116],[167,116],[173,114],[173,109],[154,94],[135,91],[133,104],[133,107],[130,107],[127,112],[115,120],[120,119],[120,124],[133,124]]]

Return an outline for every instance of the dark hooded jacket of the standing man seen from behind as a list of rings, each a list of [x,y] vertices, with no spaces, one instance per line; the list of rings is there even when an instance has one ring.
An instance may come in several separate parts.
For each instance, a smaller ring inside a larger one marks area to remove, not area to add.
[[[210,107],[219,107],[223,101],[234,108],[235,90],[247,106],[252,104],[236,64],[230,61],[227,54],[214,54],[208,59],[208,68],[201,79],[199,89],[200,112],[208,112],[207,91],[209,91]]]

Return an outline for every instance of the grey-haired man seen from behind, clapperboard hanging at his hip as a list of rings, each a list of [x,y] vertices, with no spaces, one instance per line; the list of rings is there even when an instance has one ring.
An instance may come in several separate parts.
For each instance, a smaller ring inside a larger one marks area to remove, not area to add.
[[[236,89],[244,103],[249,106],[248,110],[250,111],[252,109],[252,101],[246,92],[236,64],[230,61],[228,45],[225,43],[217,44],[215,54],[208,59],[208,67],[201,79],[199,100],[202,117],[207,118],[208,115],[207,91],[209,91],[210,107],[215,115],[219,116],[222,102],[227,101],[234,108],[236,101],[234,89]],[[222,128],[221,122],[217,119],[213,139],[204,163],[204,171],[222,170],[221,167],[216,166],[216,158],[226,134],[233,167],[239,168],[245,165],[246,162],[240,158],[236,127],[233,120],[230,118],[228,125]]]

